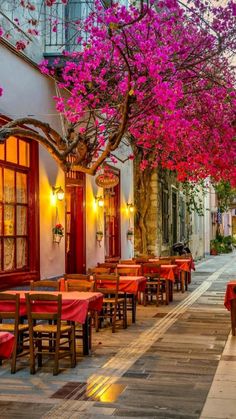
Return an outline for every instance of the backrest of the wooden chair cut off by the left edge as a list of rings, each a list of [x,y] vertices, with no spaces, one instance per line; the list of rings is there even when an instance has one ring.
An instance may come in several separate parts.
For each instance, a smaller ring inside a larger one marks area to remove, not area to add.
[[[0,304],[0,322],[14,320],[15,330],[17,330],[20,321],[20,295],[0,292]]]

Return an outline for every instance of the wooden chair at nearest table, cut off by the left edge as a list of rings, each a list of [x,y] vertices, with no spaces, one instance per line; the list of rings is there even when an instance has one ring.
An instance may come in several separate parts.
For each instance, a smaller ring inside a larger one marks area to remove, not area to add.
[[[16,372],[16,359],[29,353],[28,348],[25,347],[26,343],[29,342],[29,328],[28,324],[20,323],[19,294],[0,293],[0,302],[6,304],[6,311],[0,311],[0,331],[14,333],[15,336],[11,359],[11,373],[14,374]],[[4,321],[7,323],[4,323]]]

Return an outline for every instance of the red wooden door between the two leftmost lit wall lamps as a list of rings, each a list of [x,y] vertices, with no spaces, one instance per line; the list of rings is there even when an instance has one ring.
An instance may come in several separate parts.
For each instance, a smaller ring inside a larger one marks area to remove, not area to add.
[[[66,273],[85,273],[85,189],[66,186]]]

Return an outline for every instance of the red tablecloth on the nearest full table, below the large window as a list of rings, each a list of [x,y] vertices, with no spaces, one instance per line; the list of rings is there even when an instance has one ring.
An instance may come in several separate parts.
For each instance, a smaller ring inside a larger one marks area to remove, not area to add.
[[[26,314],[26,304],[25,304],[25,293],[27,291],[6,291],[13,294],[20,294],[20,311],[21,315]],[[57,295],[58,292],[48,292],[48,291],[28,291],[31,294],[53,294]],[[62,294],[62,320],[71,320],[79,323],[85,323],[86,316],[89,310],[98,310],[102,309],[103,295],[99,292],[60,292]],[[0,310],[4,304],[3,310],[10,310],[10,304],[5,302],[0,303]],[[53,301],[50,302],[36,302],[38,312],[48,312],[53,313],[55,311],[56,303]]]

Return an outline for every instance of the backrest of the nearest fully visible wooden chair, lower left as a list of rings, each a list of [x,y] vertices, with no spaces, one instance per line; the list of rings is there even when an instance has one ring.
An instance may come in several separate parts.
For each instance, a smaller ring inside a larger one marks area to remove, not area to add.
[[[26,307],[29,328],[32,328],[37,320],[55,320],[58,330],[61,323],[62,295],[26,293]]]

